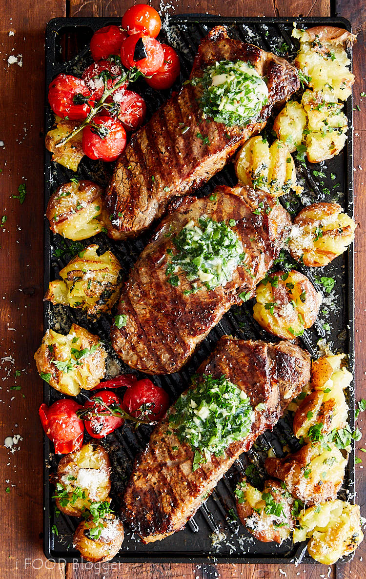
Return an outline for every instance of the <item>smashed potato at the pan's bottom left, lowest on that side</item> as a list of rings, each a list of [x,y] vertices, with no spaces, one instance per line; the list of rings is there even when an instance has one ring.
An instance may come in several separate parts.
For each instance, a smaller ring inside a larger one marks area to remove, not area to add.
[[[93,563],[110,561],[122,546],[125,534],[122,522],[113,514],[97,523],[93,518],[82,521],[74,533],[74,548],[83,559]]]

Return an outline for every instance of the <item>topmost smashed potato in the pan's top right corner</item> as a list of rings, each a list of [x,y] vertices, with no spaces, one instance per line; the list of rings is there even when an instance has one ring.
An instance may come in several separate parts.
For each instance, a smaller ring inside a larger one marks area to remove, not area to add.
[[[317,26],[308,30],[295,28],[292,36],[300,42],[295,65],[307,77],[314,90],[330,91],[334,101],[347,100],[352,91],[354,75],[349,71],[346,46],[352,46],[356,36],[333,26]]]

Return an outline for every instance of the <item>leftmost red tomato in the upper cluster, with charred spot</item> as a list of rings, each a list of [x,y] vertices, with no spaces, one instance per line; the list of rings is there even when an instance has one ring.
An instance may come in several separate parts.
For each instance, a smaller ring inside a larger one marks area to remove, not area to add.
[[[52,80],[48,100],[55,115],[70,120],[85,119],[94,106],[84,80],[69,74],[59,74]]]

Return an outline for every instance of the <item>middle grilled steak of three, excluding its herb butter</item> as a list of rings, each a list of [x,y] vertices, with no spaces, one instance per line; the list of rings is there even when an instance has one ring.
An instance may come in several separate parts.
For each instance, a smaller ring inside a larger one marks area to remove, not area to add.
[[[276,199],[263,196],[261,209],[256,209],[258,192],[246,186],[220,186],[213,196],[185,197],[174,203],[175,212],[162,221],[123,287],[118,313],[127,317],[126,325],[112,327],[112,345],[120,358],[151,374],[177,372],[224,313],[241,303],[239,294],[247,292],[247,298],[254,294],[290,227],[287,211]],[[184,272],[177,287],[169,283],[166,272],[175,252],[174,234],[203,216],[225,223],[233,219],[232,230],[245,258],[226,285],[208,290],[199,281],[199,291],[192,293]]]

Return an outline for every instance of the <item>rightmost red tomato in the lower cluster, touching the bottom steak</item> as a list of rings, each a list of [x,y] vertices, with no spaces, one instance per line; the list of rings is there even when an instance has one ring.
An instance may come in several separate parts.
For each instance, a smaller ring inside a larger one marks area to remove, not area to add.
[[[147,417],[152,421],[160,420],[169,408],[169,396],[151,380],[138,380],[126,390],[123,396],[123,407],[135,418]]]

